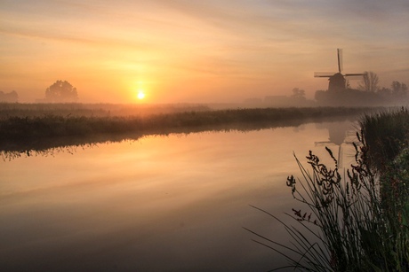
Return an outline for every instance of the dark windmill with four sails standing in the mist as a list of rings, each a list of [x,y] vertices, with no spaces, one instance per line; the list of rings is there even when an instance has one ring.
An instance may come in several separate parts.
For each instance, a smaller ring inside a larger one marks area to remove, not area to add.
[[[349,76],[361,76],[361,74],[342,74],[342,50],[337,49],[338,55],[338,73],[336,72],[315,72],[314,77],[328,77],[328,91],[337,91],[346,89],[346,77]]]

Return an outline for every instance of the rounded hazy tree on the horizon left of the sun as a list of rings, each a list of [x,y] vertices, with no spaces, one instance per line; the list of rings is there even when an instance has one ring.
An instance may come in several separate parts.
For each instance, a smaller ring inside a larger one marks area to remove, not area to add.
[[[45,89],[45,100],[47,102],[76,102],[78,94],[69,82],[57,81]]]

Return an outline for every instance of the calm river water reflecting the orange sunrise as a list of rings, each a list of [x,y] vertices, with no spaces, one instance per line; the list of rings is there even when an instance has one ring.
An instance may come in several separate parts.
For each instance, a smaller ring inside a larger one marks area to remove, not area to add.
[[[330,130],[329,130],[330,128]],[[243,227],[286,242],[261,207],[300,206],[293,158],[349,122],[148,136],[0,162],[2,271],[264,271],[284,265]],[[337,131],[339,130],[339,131]],[[340,143],[338,143],[340,144]],[[350,159],[348,144],[343,158]],[[348,164],[345,162],[344,163]]]

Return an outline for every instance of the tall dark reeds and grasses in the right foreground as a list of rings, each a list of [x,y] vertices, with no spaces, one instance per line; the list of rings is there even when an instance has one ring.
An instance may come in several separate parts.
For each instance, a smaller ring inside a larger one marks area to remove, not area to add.
[[[357,133],[355,163],[342,173],[307,156],[301,179],[287,179],[303,208],[283,223],[293,247],[256,234],[289,267],[310,271],[409,271],[409,126],[407,110],[366,114]],[[312,238],[311,238],[312,237]]]

